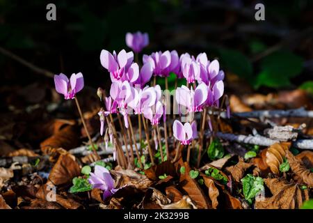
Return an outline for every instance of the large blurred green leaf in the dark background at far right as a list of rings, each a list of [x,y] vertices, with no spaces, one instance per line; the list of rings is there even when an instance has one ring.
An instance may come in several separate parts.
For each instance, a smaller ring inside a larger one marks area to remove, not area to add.
[[[255,81],[255,88],[269,86],[279,88],[290,86],[289,79],[303,70],[303,59],[292,52],[274,52],[261,61],[261,72]]]

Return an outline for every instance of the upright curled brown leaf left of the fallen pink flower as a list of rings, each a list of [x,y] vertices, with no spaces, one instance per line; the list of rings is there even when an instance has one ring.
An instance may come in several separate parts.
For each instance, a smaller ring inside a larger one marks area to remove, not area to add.
[[[49,174],[49,180],[54,185],[68,185],[72,183],[72,178],[81,174],[81,168],[75,157],[70,154],[60,155]]]

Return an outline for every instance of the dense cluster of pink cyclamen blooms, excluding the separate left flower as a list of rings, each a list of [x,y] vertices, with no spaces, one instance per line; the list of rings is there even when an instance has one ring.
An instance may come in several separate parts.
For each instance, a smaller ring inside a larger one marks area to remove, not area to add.
[[[149,40],[146,33],[127,33],[126,42],[134,52],[138,53]],[[109,71],[112,81],[110,96],[105,99],[106,109],[99,112],[101,134],[104,132],[104,117],[108,114],[122,114],[126,128],[129,127],[127,116],[133,112],[143,114],[152,125],[158,125],[161,116],[163,121],[166,121],[166,103],[162,100],[161,87],[147,85],[152,75],[168,77],[172,72],[177,75],[177,78],[186,79],[187,86],[178,87],[175,93],[179,111],[182,107],[186,107],[189,113],[202,112],[204,107],[218,107],[223,95],[224,72],[220,70],[217,60],[209,61],[206,53],[196,57],[188,53],[179,56],[175,50],[145,54],[143,66],[139,68],[138,63],[134,62],[133,52],[122,49],[118,54],[115,51],[111,54],[103,49],[100,61]],[[189,84],[191,84],[190,88]],[[173,126],[174,136],[182,144],[190,143],[196,135],[191,134],[196,132],[196,128],[189,128],[189,125],[186,123],[182,125],[179,121],[175,121],[176,127]]]

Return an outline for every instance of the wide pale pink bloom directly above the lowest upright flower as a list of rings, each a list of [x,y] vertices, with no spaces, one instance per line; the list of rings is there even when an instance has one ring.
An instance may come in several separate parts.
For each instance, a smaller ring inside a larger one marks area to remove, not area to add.
[[[183,105],[188,112],[201,112],[202,105],[207,100],[208,88],[204,83],[199,84],[195,91],[193,88],[188,89],[186,86],[177,88],[176,101],[178,105]]]

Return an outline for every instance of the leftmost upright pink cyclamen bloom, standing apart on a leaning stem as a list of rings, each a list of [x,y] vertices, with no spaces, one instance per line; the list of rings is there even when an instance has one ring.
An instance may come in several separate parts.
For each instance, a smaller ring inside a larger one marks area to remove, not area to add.
[[[76,93],[83,89],[83,74],[72,74],[70,80],[63,73],[54,75],[54,84],[56,91],[62,93],[65,99],[73,99]]]

